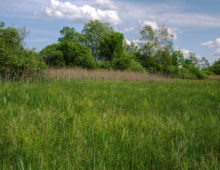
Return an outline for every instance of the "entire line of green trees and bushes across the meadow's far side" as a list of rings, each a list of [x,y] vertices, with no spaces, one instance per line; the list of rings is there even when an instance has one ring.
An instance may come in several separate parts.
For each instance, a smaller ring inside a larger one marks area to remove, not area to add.
[[[0,24],[0,74],[22,77],[46,67],[82,67],[86,69],[129,70],[164,76],[203,79],[220,74],[220,60],[210,66],[206,58],[194,53],[185,57],[174,50],[174,36],[166,26],[153,29],[146,25],[140,39],[128,43],[124,34],[109,23],[98,20],[85,24],[81,32],[63,27],[55,44],[36,52],[24,48],[25,29]]]

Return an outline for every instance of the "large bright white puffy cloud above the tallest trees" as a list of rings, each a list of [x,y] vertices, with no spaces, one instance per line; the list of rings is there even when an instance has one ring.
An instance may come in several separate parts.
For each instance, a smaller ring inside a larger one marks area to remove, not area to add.
[[[50,5],[43,7],[44,14],[49,18],[64,18],[73,23],[86,23],[90,20],[100,20],[119,24],[121,22],[118,12],[113,9],[104,9],[106,4],[111,4],[109,0],[96,0],[96,4],[101,8],[91,5],[78,6],[59,0],[50,0]]]

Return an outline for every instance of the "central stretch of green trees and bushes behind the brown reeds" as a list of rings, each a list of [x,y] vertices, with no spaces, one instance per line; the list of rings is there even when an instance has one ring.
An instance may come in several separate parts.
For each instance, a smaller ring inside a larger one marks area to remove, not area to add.
[[[156,30],[145,26],[140,31],[138,44],[127,44],[122,33],[115,31],[110,24],[97,20],[85,24],[82,33],[70,27],[64,27],[60,33],[62,37],[58,44],[49,45],[41,52],[50,66],[147,71],[187,79],[204,79],[212,74],[207,70],[209,62],[204,57],[199,60],[194,53],[190,53],[185,58],[181,50],[173,49],[174,36],[168,33],[165,26]],[[66,44],[65,48],[57,48],[61,44]],[[75,55],[74,51],[77,51]],[[76,55],[82,56],[82,62],[76,62]],[[83,64],[84,61],[86,64]]]

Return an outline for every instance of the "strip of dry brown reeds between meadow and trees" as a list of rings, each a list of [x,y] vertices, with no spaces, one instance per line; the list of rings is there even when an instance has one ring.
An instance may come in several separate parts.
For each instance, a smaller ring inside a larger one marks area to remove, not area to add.
[[[167,81],[170,78],[149,73],[137,73],[131,71],[108,71],[108,70],[86,70],[80,68],[50,68],[46,74],[55,79],[79,79],[79,80],[114,80],[114,81]]]

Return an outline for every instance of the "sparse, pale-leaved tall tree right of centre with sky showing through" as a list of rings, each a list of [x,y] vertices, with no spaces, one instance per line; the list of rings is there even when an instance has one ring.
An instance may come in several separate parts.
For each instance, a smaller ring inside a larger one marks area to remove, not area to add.
[[[150,72],[166,71],[171,66],[173,58],[173,35],[165,26],[153,29],[146,25],[140,31],[139,54],[137,60]]]

